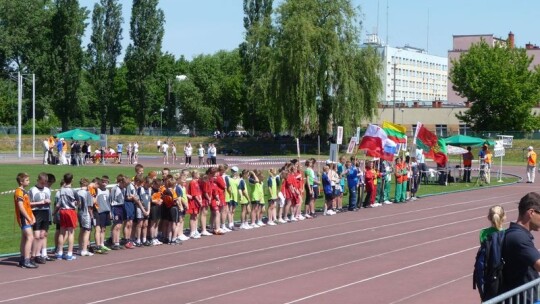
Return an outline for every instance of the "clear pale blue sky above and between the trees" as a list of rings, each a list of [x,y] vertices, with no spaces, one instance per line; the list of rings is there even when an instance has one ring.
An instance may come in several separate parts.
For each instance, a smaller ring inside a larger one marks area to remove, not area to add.
[[[92,11],[99,1],[79,2]],[[125,50],[130,42],[132,1],[120,2]],[[281,2],[274,1],[274,6]],[[518,47],[529,42],[540,44],[540,30],[535,22],[540,14],[540,1],[352,0],[352,3],[361,9],[360,38],[363,40],[366,34],[378,32],[383,41],[388,37],[389,45],[394,47],[407,44],[447,57],[452,48],[452,35],[494,34],[506,38],[510,31],[515,34]],[[236,48],[244,36],[242,5],[242,0],[160,0],[159,7],[165,13],[162,50],[176,58],[183,55],[192,59],[199,54]],[[90,34],[91,24],[86,28],[84,46]]]

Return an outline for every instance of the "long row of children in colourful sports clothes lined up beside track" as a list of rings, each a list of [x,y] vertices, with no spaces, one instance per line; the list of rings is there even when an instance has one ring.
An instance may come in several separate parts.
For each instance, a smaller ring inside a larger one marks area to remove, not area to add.
[[[180,244],[190,238],[223,235],[238,228],[252,229],[313,218],[320,184],[326,198],[324,215],[342,210],[345,181],[350,193],[349,210],[357,210],[364,190],[364,207],[389,203],[392,172],[389,162],[380,162],[379,170],[375,170],[374,163],[367,162],[364,171],[360,170],[361,163],[354,159],[347,162],[342,159],[339,164],[327,162],[320,180],[315,165],[315,159],[307,160],[302,171],[300,162],[292,160],[280,170],[270,169],[267,177],[261,170],[240,171],[236,166],[228,170],[227,165],[211,167],[202,176],[197,170],[186,169],[171,175],[164,169],[162,178],[157,178],[155,171],[145,176],[143,165],[137,164],[134,178],[119,175],[112,188],[108,187],[109,177],[102,176],[92,181],[81,179],[81,188],[77,191],[71,189],[73,175],[68,173],[52,206],[49,187],[54,183],[54,176],[40,174],[36,186],[27,193],[25,187],[29,179],[21,173],[15,192],[17,219],[23,231],[20,266],[34,268],[36,264],[55,259],[74,260],[73,231],[77,226],[81,230],[78,254],[90,256],[121,248]],[[416,167],[414,158],[409,164],[396,159],[395,202],[405,200],[403,193],[408,180],[405,177],[409,170],[415,177],[411,187],[414,198]],[[241,209],[238,226],[234,218],[236,208]],[[266,221],[263,221],[264,214]],[[186,215],[190,222],[188,235],[183,229]],[[54,256],[49,257],[46,238],[51,217],[57,224],[57,235]],[[111,236],[106,239],[105,231],[110,225]],[[95,245],[90,248],[92,229]],[[64,253],[66,241],[68,249]]]

